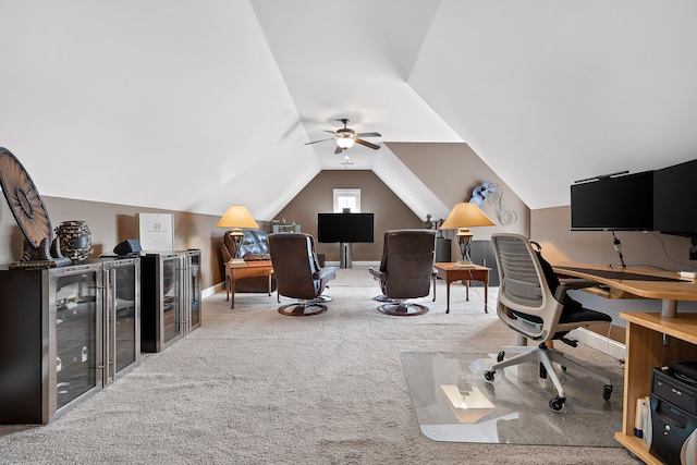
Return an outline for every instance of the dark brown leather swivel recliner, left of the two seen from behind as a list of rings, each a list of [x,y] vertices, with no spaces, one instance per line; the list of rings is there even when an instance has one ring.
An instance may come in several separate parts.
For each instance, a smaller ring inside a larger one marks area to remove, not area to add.
[[[337,277],[337,270],[319,266],[314,237],[299,232],[269,234],[269,252],[278,283],[277,292],[298,299],[279,307],[279,314],[305,317],[327,311],[327,306],[319,303],[318,298],[327,283]]]

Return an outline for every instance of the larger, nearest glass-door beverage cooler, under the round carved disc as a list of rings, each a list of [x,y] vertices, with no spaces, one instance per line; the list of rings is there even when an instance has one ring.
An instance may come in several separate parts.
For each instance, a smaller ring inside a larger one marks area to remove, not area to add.
[[[140,362],[139,261],[0,269],[0,424],[47,424]]]

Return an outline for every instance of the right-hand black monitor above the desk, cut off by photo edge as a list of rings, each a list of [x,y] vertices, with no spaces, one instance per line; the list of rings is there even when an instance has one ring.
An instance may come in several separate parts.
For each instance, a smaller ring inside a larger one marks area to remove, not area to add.
[[[697,160],[653,172],[653,230],[697,237],[693,199],[697,188]]]

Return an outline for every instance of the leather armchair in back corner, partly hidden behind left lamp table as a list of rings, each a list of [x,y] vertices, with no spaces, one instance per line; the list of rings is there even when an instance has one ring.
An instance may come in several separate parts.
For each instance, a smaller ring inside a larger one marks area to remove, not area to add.
[[[269,254],[269,237],[266,231],[242,230],[244,238],[240,246],[240,256],[245,261],[271,260]],[[225,233],[220,242],[220,254],[223,264],[230,261],[235,255],[234,241]],[[271,292],[276,290],[276,278],[271,276]],[[235,292],[269,292],[269,281],[266,277],[243,278],[235,281]]]

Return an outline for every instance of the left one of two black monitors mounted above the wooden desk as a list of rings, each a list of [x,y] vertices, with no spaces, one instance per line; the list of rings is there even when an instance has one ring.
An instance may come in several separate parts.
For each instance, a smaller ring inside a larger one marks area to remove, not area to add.
[[[571,186],[572,231],[652,231],[653,171]]]

